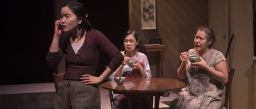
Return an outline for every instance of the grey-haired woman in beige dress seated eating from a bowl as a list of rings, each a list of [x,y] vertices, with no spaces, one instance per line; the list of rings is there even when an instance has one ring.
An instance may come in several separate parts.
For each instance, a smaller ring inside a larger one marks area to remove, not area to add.
[[[194,48],[180,54],[178,78],[188,78],[188,84],[172,101],[171,109],[225,109],[225,86],[228,68],[224,55],[212,49],[214,31],[199,26],[194,37]],[[199,55],[201,62],[191,63],[186,55]]]

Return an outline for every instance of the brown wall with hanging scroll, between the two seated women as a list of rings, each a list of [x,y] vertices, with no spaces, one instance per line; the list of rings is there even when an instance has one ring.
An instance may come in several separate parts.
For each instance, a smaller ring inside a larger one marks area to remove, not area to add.
[[[166,78],[178,78],[180,53],[193,48],[193,34],[200,25],[208,25],[207,0],[156,0],[156,29],[141,30],[140,0],[129,1],[130,29],[139,33],[142,45],[149,38],[162,38],[166,50]],[[152,59],[152,58],[150,58]],[[149,61],[150,64],[150,61]],[[152,75],[156,73],[151,65]]]

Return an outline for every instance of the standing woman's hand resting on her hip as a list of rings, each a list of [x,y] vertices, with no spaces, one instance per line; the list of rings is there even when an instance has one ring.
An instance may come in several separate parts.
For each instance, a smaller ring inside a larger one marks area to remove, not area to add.
[[[102,82],[102,79],[100,77],[91,76],[89,74],[82,75],[82,78],[80,78],[82,83],[85,85],[88,84],[99,84]]]

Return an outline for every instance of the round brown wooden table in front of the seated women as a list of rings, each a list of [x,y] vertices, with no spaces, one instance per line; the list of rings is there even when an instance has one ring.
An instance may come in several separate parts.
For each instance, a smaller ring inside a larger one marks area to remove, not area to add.
[[[175,79],[167,78],[133,78],[126,79],[123,85],[117,85],[115,81],[107,81],[101,84],[102,88],[112,90],[114,93],[128,96],[129,109],[133,109],[133,96],[155,96],[155,108],[159,109],[160,96],[167,92],[185,87],[185,83]],[[149,105],[153,108],[153,99]]]

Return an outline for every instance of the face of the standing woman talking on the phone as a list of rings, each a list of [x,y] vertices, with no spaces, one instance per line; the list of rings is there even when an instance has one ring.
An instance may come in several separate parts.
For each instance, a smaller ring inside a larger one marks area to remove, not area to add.
[[[62,7],[60,12],[60,21],[63,24],[63,31],[70,31],[76,28],[78,24],[81,24],[81,20],[78,20],[76,14],[74,14],[69,7]]]

